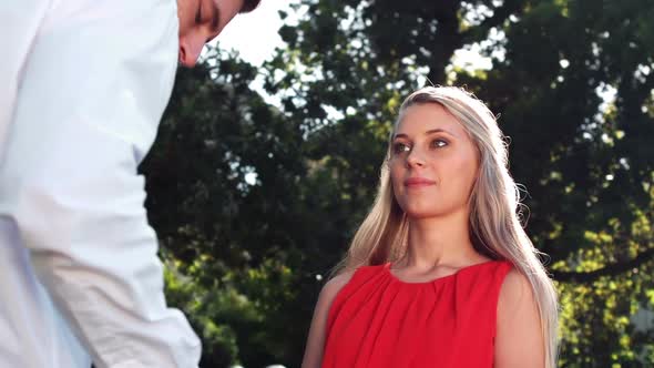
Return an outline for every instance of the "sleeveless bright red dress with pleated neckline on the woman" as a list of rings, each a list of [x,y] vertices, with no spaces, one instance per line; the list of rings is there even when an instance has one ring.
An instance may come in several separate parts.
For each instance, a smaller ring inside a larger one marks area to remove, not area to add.
[[[491,260],[428,283],[401,282],[390,264],[358,268],[329,308],[323,368],[491,368],[511,267]]]

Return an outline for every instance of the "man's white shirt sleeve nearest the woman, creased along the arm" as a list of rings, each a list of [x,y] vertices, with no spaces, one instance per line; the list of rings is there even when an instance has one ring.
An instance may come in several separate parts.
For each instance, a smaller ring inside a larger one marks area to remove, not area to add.
[[[174,0],[54,1],[18,88],[0,197],[34,272],[104,367],[197,367],[166,307],[137,165],[177,55]]]

